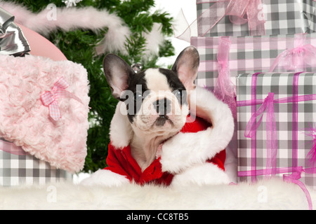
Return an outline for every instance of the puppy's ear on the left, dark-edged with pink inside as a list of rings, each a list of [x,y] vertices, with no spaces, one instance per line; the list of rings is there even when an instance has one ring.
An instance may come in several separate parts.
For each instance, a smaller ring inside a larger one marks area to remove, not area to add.
[[[131,66],[117,55],[106,55],[103,59],[103,70],[113,97],[120,99],[121,92],[129,87],[129,77],[135,73]]]

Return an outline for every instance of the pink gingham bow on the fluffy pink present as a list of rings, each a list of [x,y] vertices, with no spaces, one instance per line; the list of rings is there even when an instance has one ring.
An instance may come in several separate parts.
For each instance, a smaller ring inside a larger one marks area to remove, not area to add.
[[[69,87],[66,80],[61,77],[58,79],[58,81],[53,85],[53,88],[51,91],[46,91],[43,94],[41,94],[41,102],[44,106],[48,106],[49,109],[49,115],[53,120],[59,120],[61,118],[60,115],[60,109],[58,106],[58,99],[61,97],[70,97],[72,99],[76,99],[78,102],[81,102],[81,100],[76,97],[71,92],[68,92],[67,87]]]

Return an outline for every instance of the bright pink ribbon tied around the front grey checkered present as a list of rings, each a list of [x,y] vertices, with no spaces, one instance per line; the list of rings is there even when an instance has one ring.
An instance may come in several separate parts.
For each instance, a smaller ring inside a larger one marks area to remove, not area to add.
[[[252,181],[256,181],[257,175],[271,175],[282,174],[285,172],[292,172],[292,174],[284,174],[283,178],[291,183],[296,183],[304,191],[308,200],[309,209],[312,209],[312,200],[305,185],[298,181],[301,179],[302,172],[316,173],[316,168],[303,169],[298,167],[298,102],[315,100],[316,94],[308,94],[298,96],[298,77],[300,73],[294,75],[293,80],[293,96],[284,97],[280,99],[274,99],[274,93],[270,92],[265,99],[256,99],[256,80],[258,73],[254,73],[251,81],[251,100],[239,101],[237,106],[252,106],[252,116],[249,123],[246,125],[244,136],[251,138],[251,171],[238,172],[238,176],[251,176]],[[255,96],[255,97],[253,97]],[[275,123],[275,111],[273,104],[293,104],[293,117],[292,117],[292,167],[277,169],[277,126]],[[256,105],[261,106],[256,110]],[[267,164],[266,169],[261,171],[256,170],[256,130],[261,124],[263,119],[263,113],[267,113],[266,116],[266,132],[267,132]],[[259,117],[258,122],[256,121]]]

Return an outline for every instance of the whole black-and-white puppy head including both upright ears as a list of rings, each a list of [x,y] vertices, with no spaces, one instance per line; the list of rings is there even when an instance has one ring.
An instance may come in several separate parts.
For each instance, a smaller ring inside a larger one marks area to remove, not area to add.
[[[132,127],[147,133],[177,132],[185,124],[189,105],[187,91],[199,66],[195,48],[183,50],[171,70],[147,69],[134,73],[123,59],[107,55],[103,62],[112,94],[124,101]]]

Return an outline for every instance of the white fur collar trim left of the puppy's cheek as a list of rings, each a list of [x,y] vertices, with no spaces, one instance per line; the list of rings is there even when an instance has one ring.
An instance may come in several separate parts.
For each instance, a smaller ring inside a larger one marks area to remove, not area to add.
[[[115,148],[125,148],[131,142],[133,132],[129,118],[126,115],[124,102],[119,102],[110,125],[110,139],[112,146]]]

